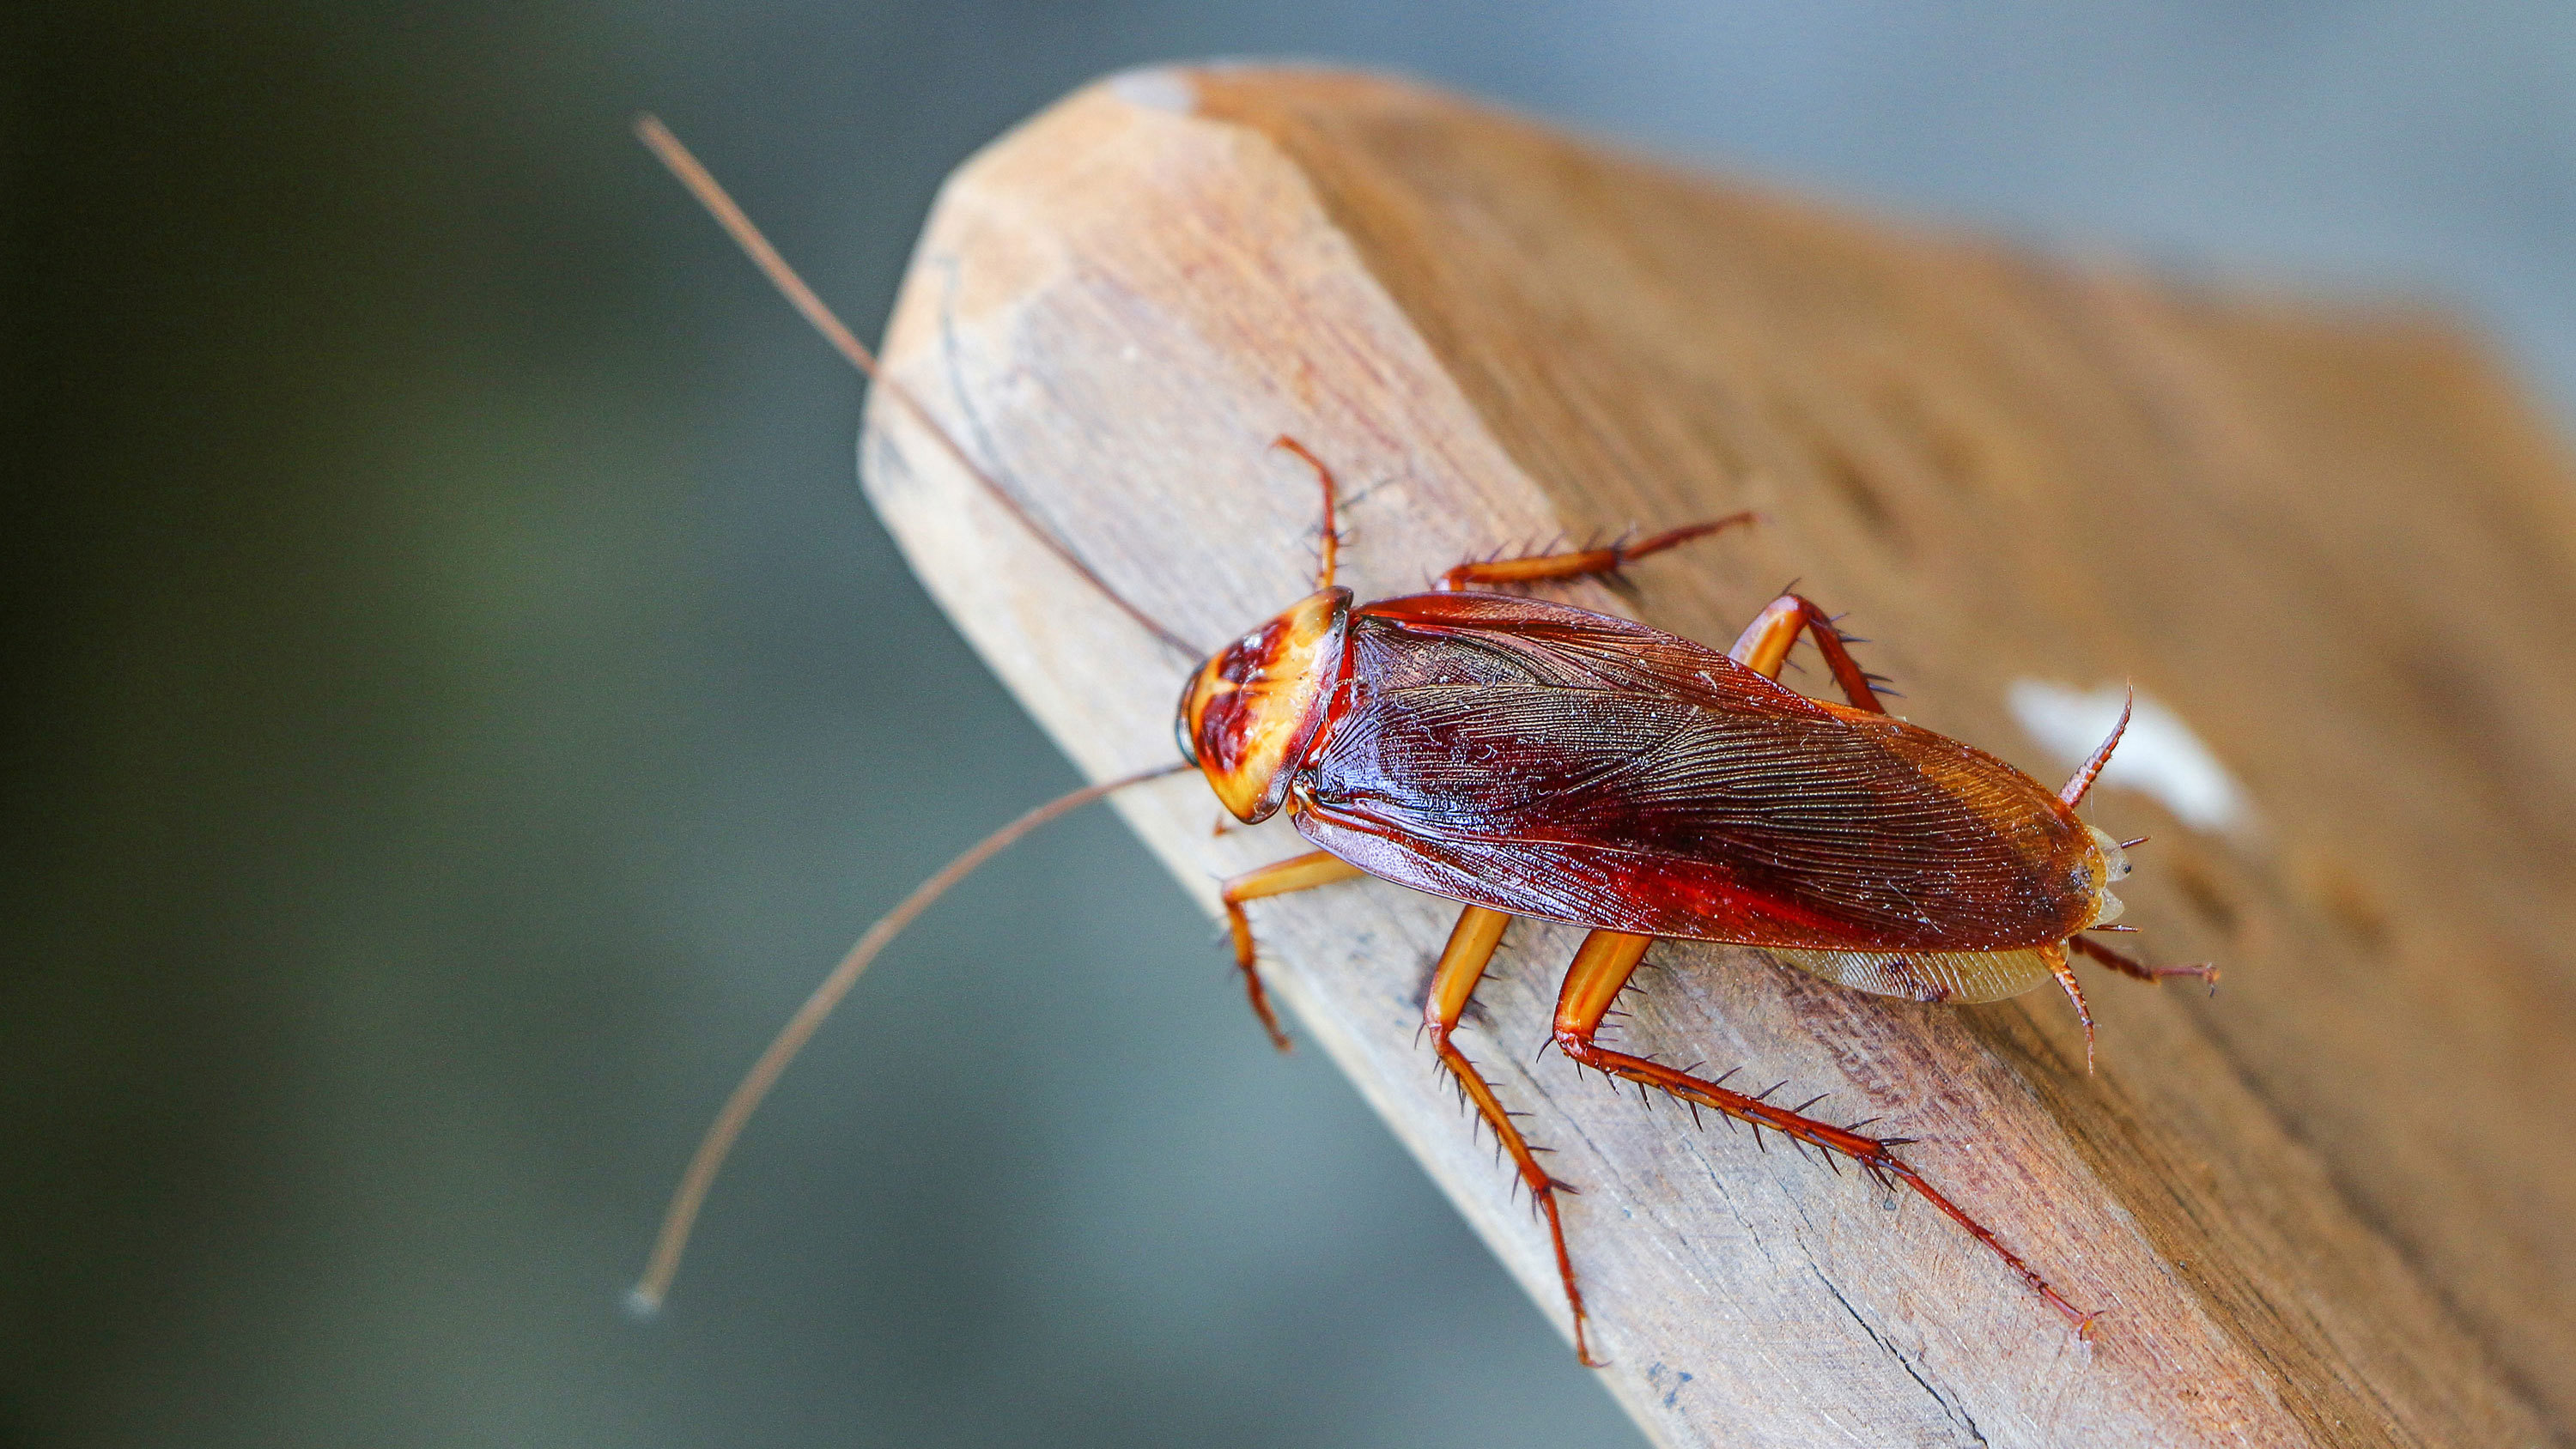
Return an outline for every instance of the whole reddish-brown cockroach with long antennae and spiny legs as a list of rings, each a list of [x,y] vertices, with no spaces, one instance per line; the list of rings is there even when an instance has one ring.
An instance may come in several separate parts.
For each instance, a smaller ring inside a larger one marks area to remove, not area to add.
[[[969,476],[1048,551],[1164,643],[1188,641],[1118,597],[1064,540],[1038,528],[958,440],[891,378],[796,278],[750,219],[657,121],[641,139],[716,214],[773,283],[889,399],[912,412]],[[1316,592],[1288,605],[1190,672],[1175,728],[1182,764],[1074,790],[992,834],[868,929],[770,1042],[708,1127],[672,1197],[634,1305],[670,1287],[698,1204],[744,1120],[778,1071],[814,1035],[858,973],[943,891],[1036,826],[1126,785],[1198,770],[1242,821],[1288,811],[1311,852],[1224,883],[1234,960],[1252,1009],[1288,1045],[1262,993],[1247,901],[1376,875],[1461,906],[1432,968],[1422,1027],[1437,1063],[1510,1153],[1546,1215],[1584,1338],[1584,1297],[1566,1253],[1558,1192],[1494,1089],[1458,1050],[1466,1014],[1515,916],[1589,929],[1566,968],[1551,1042],[1577,1066],[1664,1091],[1695,1112],[1721,1112],[1832,1158],[1860,1163],[1880,1186],[1904,1181],[1991,1248],[2030,1292],[2079,1310],[2002,1238],[1896,1156],[1909,1138],[1870,1138],[1868,1122],[1834,1125],[1747,1094],[1726,1078],[1605,1048],[1602,1017],[1659,937],[1762,947],[1826,981],[1909,1001],[1999,1001],[2056,978],[2092,1017],[2069,952],[2159,981],[2210,965],[2151,968],[2087,932],[2115,927],[2125,847],[2076,818],[2110,762],[2110,739],[2061,788],[1888,715],[1875,677],[1852,659],[1834,620],[1790,592],[1772,600],[1718,654],[1613,615],[1494,584],[1615,574],[1680,543],[1749,522],[1734,515],[1636,543],[1458,564],[1425,595],[1355,602],[1334,584],[1334,479],[1303,445],[1280,448],[1314,468],[1324,494]],[[1808,636],[1847,703],[1811,700],[1775,679]],[[1728,1073],[1731,1076],[1731,1073]]]

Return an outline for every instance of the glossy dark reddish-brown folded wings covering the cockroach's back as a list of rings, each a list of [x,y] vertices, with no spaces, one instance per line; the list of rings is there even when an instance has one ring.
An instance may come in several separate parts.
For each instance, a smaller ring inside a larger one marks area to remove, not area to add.
[[[1355,610],[1350,651],[1296,824],[1370,875],[1793,952],[2020,952],[2092,921],[2099,854],[2040,782],[1687,638],[1422,595]],[[1862,965],[1811,970],[1886,975]]]

